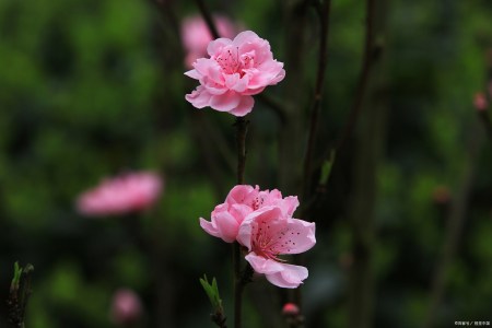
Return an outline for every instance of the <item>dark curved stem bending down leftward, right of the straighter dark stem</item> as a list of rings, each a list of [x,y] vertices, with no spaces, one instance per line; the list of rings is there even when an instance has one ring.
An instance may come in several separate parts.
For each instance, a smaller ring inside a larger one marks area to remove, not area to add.
[[[345,127],[343,128],[342,134],[337,142],[337,151],[341,150],[345,144],[349,137],[352,134],[352,130],[358,122],[358,118],[361,114],[362,103],[364,99],[364,94],[368,85],[368,77],[371,68],[373,67],[373,61],[375,59],[374,49],[374,23],[376,11],[376,0],[366,0],[366,17],[365,17],[365,43],[364,43],[364,55],[362,59],[362,70],[359,78],[358,89],[355,93],[355,101],[349,114]]]

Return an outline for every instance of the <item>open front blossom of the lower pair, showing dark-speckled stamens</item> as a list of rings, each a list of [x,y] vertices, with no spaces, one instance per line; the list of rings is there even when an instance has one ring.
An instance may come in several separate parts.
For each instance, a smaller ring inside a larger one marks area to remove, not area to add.
[[[316,244],[315,223],[292,219],[279,207],[265,207],[243,221],[237,242],[247,247],[245,258],[256,272],[277,286],[293,289],[307,278],[307,269],[284,263],[279,256],[311,249]]]

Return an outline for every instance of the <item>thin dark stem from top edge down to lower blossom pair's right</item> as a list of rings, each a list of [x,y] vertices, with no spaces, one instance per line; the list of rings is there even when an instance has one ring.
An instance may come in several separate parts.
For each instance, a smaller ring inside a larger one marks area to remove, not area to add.
[[[326,0],[323,4],[318,3],[316,5],[316,11],[319,16],[321,24],[321,31],[319,36],[319,56],[318,56],[318,72],[316,77],[316,86],[314,92],[313,109],[311,112],[311,124],[309,132],[307,139],[307,149],[304,157],[304,177],[303,177],[303,188],[302,188],[302,200],[305,200],[309,195],[311,190],[311,173],[312,173],[312,162],[313,152],[316,143],[316,132],[318,127],[318,116],[321,108],[321,97],[323,97],[323,85],[325,84],[325,71],[327,66],[327,54],[328,54],[328,30],[329,30],[329,17],[330,17],[331,0]]]

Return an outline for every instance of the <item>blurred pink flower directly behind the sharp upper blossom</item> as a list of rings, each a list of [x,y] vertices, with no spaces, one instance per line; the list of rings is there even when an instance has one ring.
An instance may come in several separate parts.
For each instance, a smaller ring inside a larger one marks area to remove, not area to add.
[[[236,26],[229,19],[216,15],[213,21],[222,37],[231,38],[237,33]],[[183,21],[181,40],[187,52],[185,65],[192,69],[192,65],[198,58],[207,56],[207,46],[213,40],[213,37],[204,20],[200,15],[195,15]]]

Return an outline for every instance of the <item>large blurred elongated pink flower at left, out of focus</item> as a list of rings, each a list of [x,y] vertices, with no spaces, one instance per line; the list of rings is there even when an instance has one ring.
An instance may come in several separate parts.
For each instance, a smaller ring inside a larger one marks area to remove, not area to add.
[[[162,190],[159,175],[151,172],[128,173],[105,179],[82,194],[77,207],[91,216],[117,215],[151,207]]]

